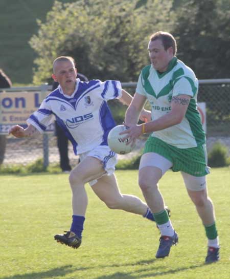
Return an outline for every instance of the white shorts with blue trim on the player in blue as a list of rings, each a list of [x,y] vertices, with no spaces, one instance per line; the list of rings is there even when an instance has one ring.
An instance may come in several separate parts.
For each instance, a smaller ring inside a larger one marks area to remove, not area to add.
[[[107,145],[99,145],[94,149],[79,154],[80,160],[82,161],[86,156],[95,157],[103,163],[103,168],[106,171],[105,175],[112,175],[115,171],[115,165],[118,163],[118,155],[111,151]],[[93,186],[98,182],[97,179],[89,181],[89,185]]]

